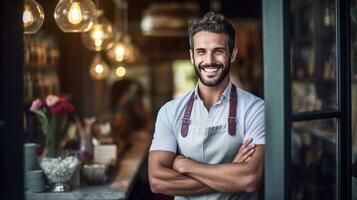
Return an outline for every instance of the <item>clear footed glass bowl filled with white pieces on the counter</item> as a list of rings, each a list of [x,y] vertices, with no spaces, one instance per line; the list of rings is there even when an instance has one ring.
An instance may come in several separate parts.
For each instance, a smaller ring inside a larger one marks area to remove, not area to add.
[[[39,158],[40,166],[48,179],[52,192],[72,189],[72,177],[80,161],[74,151],[58,151]]]

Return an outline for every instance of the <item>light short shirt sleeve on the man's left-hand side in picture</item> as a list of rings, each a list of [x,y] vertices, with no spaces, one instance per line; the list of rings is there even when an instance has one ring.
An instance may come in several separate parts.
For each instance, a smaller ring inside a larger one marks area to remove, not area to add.
[[[165,104],[157,115],[150,151],[161,150],[176,153],[177,140],[173,131],[173,125],[170,123],[173,119],[168,115],[169,113],[172,114],[172,112],[168,108],[169,104]]]

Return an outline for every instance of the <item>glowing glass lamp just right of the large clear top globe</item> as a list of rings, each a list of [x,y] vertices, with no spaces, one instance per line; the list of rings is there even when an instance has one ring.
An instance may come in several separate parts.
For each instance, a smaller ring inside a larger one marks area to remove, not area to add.
[[[103,11],[97,10],[97,18],[92,28],[82,33],[82,42],[89,50],[101,51],[113,46],[113,29],[111,23],[104,17]]]

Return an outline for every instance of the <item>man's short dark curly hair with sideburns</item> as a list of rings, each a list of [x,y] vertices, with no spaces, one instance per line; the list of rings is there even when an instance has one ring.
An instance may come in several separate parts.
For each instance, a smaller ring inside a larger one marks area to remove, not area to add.
[[[206,13],[202,19],[193,20],[189,23],[188,37],[191,49],[193,49],[193,36],[200,31],[227,34],[229,52],[232,53],[235,44],[236,31],[232,24],[223,15],[210,11]]]

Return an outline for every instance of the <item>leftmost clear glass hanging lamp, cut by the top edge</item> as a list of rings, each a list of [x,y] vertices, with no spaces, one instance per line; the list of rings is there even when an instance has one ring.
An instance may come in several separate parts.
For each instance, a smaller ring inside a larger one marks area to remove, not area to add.
[[[39,3],[35,0],[25,0],[22,22],[25,34],[34,34],[40,30],[45,14]]]

